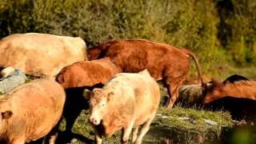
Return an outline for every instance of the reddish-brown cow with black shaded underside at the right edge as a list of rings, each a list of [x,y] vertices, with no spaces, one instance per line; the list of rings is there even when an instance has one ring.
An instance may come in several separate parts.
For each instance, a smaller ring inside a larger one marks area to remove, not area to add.
[[[224,82],[212,82],[204,99],[213,110],[228,110],[232,118],[255,122],[256,82],[232,75]]]

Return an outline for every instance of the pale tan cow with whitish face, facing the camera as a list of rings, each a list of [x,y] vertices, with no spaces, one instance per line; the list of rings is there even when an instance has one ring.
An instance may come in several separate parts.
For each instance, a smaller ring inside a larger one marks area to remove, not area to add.
[[[138,74],[116,74],[102,89],[94,89],[90,97],[89,120],[94,126],[95,141],[122,130],[122,143],[141,143],[158,110],[160,90],[147,70]],[[138,134],[138,126],[142,126]],[[137,135],[138,134],[138,135]]]

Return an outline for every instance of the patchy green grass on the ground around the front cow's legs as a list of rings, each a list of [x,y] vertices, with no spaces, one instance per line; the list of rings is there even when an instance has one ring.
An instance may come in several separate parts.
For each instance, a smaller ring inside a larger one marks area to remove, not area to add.
[[[73,132],[82,136],[94,139],[94,130],[88,122],[88,110],[82,110],[82,113],[77,118]],[[159,115],[168,118],[160,118]],[[181,118],[189,117],[189,120]],[[209,125],[205,119],[214,121],[216,126]],[[59,126],[59,130],[64,130],[65,120]],[[158,116],[154,118],[154,122],[150,126],[150,131],[143,138],[143,143],[166,143],[171,141],[174,143],[186,142],[194,143],[198,138],[203,138],[206,142],[215,141],[220,138],[223,127],[231,128],[233,126],[230,114],[223,111],[212,112],[205,110],[194,110],[174,106],[173,109],[160,107]],[[121,132],[118,131],[110,138],[103,138],[104,143],[119,143]],[[76,142],[74,142],[76,141]],[[82,143],[82,141],[74,140],[73,143]]]

